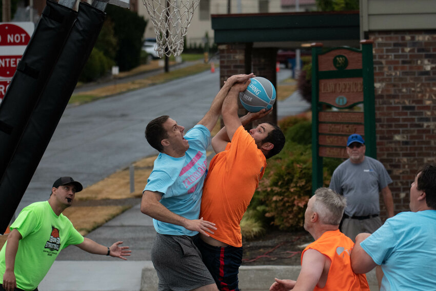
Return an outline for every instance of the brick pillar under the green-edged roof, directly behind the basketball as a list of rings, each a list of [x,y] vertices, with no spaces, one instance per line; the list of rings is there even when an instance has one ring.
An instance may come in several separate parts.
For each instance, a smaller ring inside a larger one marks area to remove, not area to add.
[[[275,48],[252,48],[251,44],[223,44],[218,46],[220,52],[220,86],[224,81],[234,74],[244,74],[253,72],[257,76],[262,76],[271,81],[277,89],[275,58],[277,50]],[[239,115],[245,115],[247,110],[240,104]],[[256,120],[246,128],[255,127],[259,123],[276,123],[276,106],[272,113],[265,118]]]

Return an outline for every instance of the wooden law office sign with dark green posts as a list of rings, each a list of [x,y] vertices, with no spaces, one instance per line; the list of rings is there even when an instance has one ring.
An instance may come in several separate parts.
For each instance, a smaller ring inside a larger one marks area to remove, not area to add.
[[[366,156],[376,159],[372,41],[362,50],[322,52],[312,44],[312,195],[323,186],[323,157],[348,158],[347,138],[365,139]],[[358,110],[355,106],[363,104]],[[327,109],[327,107],[334,108]]]

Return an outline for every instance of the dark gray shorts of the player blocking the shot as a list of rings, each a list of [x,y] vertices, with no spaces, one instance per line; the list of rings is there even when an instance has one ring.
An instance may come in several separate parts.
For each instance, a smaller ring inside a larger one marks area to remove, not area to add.
[[[159,291],[187,291],[215,284],[191,237],[157,234],[151,261],[159,278]]]

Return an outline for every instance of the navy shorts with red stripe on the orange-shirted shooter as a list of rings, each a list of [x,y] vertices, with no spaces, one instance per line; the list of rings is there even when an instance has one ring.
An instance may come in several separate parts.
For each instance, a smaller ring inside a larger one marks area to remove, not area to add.
[[[242,264],[242,247],[212,246],[205,243],[199,236],[194,239],[200,249],[202,259],[216,286],[221,291],[239,291],[237,274]]]

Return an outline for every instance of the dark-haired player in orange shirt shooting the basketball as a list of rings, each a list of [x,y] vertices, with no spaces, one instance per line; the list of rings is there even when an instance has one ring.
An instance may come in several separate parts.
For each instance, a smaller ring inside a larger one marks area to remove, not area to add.
[[[242,263],[240,222],[262,178],[266,159],[279,153],[285,137],[279,127],[259,124],[247,132],[243,125],[260,119],[272,109],[237,115],[237,98],[249,84],[237,83],[222,107],[224,127],[212,139],[217,153],[209,165],[203,187],[200,217],[213,221],[217,230],[196,241],[203,262],[220,290],[239,290],[237,274]]]

